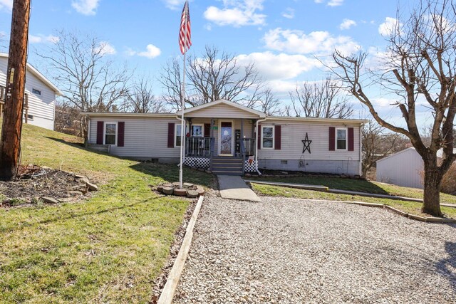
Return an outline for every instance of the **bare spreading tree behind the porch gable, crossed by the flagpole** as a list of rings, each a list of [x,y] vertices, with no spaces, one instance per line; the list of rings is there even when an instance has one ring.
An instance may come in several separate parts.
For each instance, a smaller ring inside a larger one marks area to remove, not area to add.
[[[168,105],[177,110],[182,97],[182,63],[173,59],[163,67],[159,81]],[[254,63],[241,66],[237,57],[206,46],[201,56],[187,58],[186,105],[195,106],[226,99],[255,107],[263,83]]]

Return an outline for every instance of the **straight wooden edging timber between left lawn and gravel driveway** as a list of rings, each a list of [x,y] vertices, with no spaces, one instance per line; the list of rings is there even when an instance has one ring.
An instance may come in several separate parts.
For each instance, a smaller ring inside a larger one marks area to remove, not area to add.
[[[180,251],[177,253],[176,260],[171,268],[170,274],[168,275],[165,287],[163,287],[160,298],[158,298],[158,304],[172,303],[172,299],[176,293],[177,283],[179,283],[182,270],[184,269],[185,261],[187,261],[187,256],[190,251],[190,246],[192,245],[193,229],[195,227],[203,200],[204,196],[199,196],[197,205],[195,206],[195,211],[193,211],[192,218],[190,219],[187,230],[185,231],[185,236],[184,240],[182,241],[182,245],[180,246]]]

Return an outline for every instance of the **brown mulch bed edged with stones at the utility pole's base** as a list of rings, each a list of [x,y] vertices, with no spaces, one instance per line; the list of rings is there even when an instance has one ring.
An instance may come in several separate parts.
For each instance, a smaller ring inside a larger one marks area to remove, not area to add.
[[[87,177],[33,165],[19,167],[18,173],[11,182],[0,181],[0,206],[46,202],[43,198],[62,202],[90,196]]]

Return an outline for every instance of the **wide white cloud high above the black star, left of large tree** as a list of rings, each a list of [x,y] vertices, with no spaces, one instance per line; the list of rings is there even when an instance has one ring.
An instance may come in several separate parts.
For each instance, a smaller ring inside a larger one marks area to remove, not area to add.
[[[335,49],[344,54],[358,50],[360,46],[349,36],[332,36],[327,31],[314,31],[309,34],[299,30],[275,28],[264,35],[266,48],[288,53],[333,53]]]

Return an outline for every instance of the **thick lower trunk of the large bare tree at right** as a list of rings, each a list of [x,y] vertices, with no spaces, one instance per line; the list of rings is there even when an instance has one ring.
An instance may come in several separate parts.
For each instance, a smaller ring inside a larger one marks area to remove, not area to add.
[[[440,211],[442,174],[437,167],[437,159],[435,159],[435,164],[432,164],[432,160],[425,161],[423,212],[433,216],[442,216],[442,211]]]

